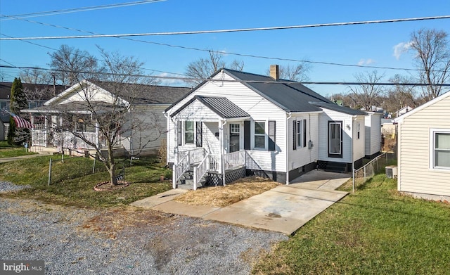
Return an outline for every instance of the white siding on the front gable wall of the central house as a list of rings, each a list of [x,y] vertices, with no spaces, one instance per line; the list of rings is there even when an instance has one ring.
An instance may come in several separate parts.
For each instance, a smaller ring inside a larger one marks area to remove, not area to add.
[[[251,124],[253,125],[255,121],[257,122],[265,122],[266,128],[269,125],[269,121],[276,121],[276,151],[267,151],[267,150],[250,150],[248,153],[250,156],[257,160],[259,167],[263,170],[268,171],[278,171],[278,172],[286,172],[286,155],[285,155],[285,133],[286,131],[286,113],[278,106],[274,105],[270,101],[262,98],[259,94],[257,94],[252,89],[249,89],[244,84],[239,82],[222,82],[221,79],[224,80],[233,80],[232,77],[227,75],[226,73],[217,74],[214,79],[217,79],[217,82],[207,82],[202,87],[195,90],[193,93],[189,94],[185,98],[183,98],[179,103],[174,105],[170,110],[168,110],[168,115],[178,110],[182,105],[191,100],[193,96],[223,96],[229,99],[229,101],[238,105],[239,108],[242,108],[251,116]],[[201,106],[200,106],[201,105]],[[188,110],[187,110],[188,109]],[[217,114],[209,110],[205,105],[199,103],[198,101],[194,101],[193,104],[189,105],[188,108],[183,110],[181,113],[177,114],[175,117],[189,117],[189,120],[194,121],[203,121],[203,122],[216,122],[217,127],[219,125],[219,117]],[[173,125],[170,117],[167,119],[168,123],[172,124],[169,131],[172,131],[169,134],[169,148],[168,151],[168,162],[174,162],[174,150],[176,148],[176,125]],[[236,123],[236,122],[229,122]],[[211,124],[213,125],[213,124]],[[175,126],[175,128],[173,128]],[[213,127],[213,126],[212,126]],[[228,122],[224,127],[229,127]],[[254,126],[252,126],[254,127]],[[208,132],[209,130],[205,130]],[[214,132],[219,132],[218,130],[214,130]],[[205,133],[205,132],[204,132]],[[241,133],[243,134],[243,133]],[[268,134],[268,132],[267,132]],[[253,143],[254,141],[252,141]],[[292,141],[289,143],[292,147]],[[228,148],[229,141],[224,140],[224,148]],[[253,144],[252,144],[253,146]],[[267,146],[267,141],[266,141]],[[206,148],[204,144],[203,147]],[[220,145],[217,146],[220,148]],[[253,148],[253,147],[251,147]],[[215,150],[216,148],[208,148],[208,150]]]

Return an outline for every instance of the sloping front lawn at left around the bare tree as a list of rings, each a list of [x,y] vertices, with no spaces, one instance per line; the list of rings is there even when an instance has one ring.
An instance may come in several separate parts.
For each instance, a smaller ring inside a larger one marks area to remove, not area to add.
[[[49,186],[49,160],[53,159],[51,185]],[[129,203],[167,191],[169,182],[160,182],[161,175],[170,173],[152,158],[134,160],[125,165],[125,180],[131,185],[115,191],[94,191],[96,184],[108,181],[109,175],[101,162],[96,162],[92,173],[93,160],[88,158],[65,158],[64,162],[55,156],[40,156],[0,164],[0,180],[15,184],[30,185],[14,193],[0,196],[9,198],[34,198],[46,203],[75,205],[79,207],[113,207]],[[122,165],[119,165],[122,169]]]

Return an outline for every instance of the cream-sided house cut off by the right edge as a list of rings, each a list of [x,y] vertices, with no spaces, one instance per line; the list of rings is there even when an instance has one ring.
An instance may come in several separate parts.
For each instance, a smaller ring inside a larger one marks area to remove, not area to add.
[[[398,190],[450,198],[450,92],[397,117]]]

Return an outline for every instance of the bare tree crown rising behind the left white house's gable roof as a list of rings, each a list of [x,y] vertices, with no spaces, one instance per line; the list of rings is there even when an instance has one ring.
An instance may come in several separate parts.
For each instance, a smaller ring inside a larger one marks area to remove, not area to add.
[[[77,83],[77,79],[86,79],[86,72],[102,70],[94,56],[68,45],[61,45],[58,51],[50,53],[50,57],[50,67],[55,71],[59,84],[72,85]]]

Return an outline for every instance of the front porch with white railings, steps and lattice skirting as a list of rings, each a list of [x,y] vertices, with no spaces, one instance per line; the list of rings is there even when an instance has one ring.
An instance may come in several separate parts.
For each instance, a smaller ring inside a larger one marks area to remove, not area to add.
[[[225,186],[247,177],[248,170],[261,171],[260,174],[265,175],[247,151],[214,155],[205,148],[196,148],[180,152],[178,156],[179,160],[173,166],[173,188],[196,190],[203,186]]]

